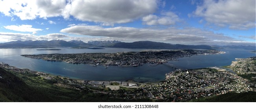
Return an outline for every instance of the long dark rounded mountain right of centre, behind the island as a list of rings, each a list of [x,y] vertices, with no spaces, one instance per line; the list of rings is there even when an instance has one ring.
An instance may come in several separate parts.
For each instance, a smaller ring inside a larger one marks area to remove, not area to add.
[[[182,44],[167,44],[163,42],[152,41],[137,41],[132,43],[116,43],[111,48],[145,48],[145,49],[211,49],[208,45],[182,45]]]

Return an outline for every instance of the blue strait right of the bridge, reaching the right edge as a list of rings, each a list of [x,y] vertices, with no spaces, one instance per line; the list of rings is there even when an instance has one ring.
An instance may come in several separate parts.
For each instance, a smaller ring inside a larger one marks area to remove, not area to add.
[[[245,49],[221,49],[220,51],[225,51],[226,53],[182,57],[179,58],[178,61],[169,61],[168,63],[178,66],[181,69],[197,69],[213,66],[228,66],[232,63],[232,61],[236,61],[235,58],[248,58],[256,56],[256,53],[250,52],[252,50]]]

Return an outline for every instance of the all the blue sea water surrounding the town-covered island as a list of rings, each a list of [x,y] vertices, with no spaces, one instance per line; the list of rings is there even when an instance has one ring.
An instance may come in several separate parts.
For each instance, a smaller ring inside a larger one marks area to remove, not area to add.
[[[42,48],[40,48],[42,49]],[[20,55],[51,54],[51,53],[116,53],[128,51],[145,51],[155,49],[124,49],[124,48],[104,48],[104,49],[74,49],[55,48],[61,50],[37,50],[37,48],[16,48],[0,49],[0,62],[15,66],[17,68],[27,68],[30,70],[45,72],[52,75],[60,75],[75,79],[90,81],[134,81],[139,83],[162,81],[165,73],[176,69],[197,69],[212,66],[230,65],[235,58],[254,57],[256,53],[245,49],[221,49],[223,54],[215,55],[193,55],[182,57],[176,61],[169,61],[167,64],[157,66],[119,67],[119,66],[91,66],[89,64],[70,64],[66,62],[44,61],[41,59],[31,59]],[[166,49],[163,49],[166,50]],[[171,65],[174,65],[171,66]]]

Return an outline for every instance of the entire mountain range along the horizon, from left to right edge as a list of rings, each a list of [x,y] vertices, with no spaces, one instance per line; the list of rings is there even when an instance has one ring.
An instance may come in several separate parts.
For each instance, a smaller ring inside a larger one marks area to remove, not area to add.
[[[163,42],[137,41],[137,42],[120,42],[113,41],[89,41],[85,43],[81,40],[26,40],[11,41],[0,44],[0,48],[55,48],[55,47],[72,47],[72,48],[88,48],[88,47],[108,47],[108,48],[137,48],[137,49],[249,49],[255,50],[255,46],[209,46],[209,45],[183,45],[183,44],[167,44]]]

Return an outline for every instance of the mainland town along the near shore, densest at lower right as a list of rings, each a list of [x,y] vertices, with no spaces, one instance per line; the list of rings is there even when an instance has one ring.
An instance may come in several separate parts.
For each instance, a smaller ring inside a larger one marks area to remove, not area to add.
[[[237,74],[223,71],[222,68],[218,67],[198,70],[176,70],[167,73],[164,81],[148,83],[84,81],[28,69],[19,69],[5,63],[0,63],[0,68],[21,74],[22,78],[37,77],[61,88],[78,91],[86,90],[126,100],[151,99],[161,102],[184,102],[229,92],[256,91],[256,83],[239,77]],[[0,78],[2,79],[2,76]]]

